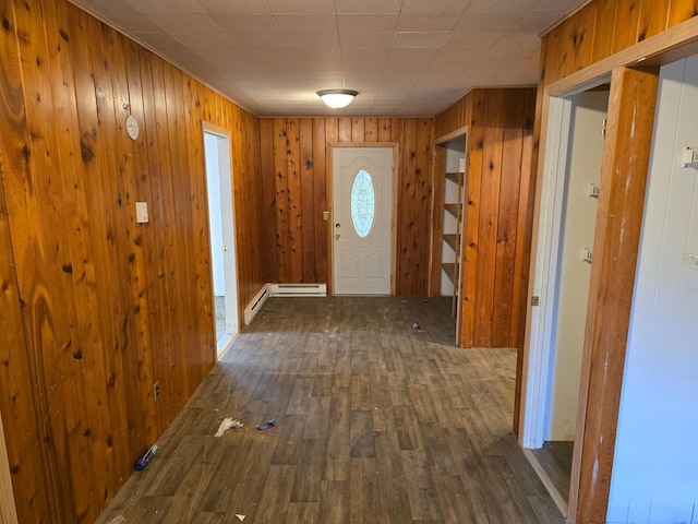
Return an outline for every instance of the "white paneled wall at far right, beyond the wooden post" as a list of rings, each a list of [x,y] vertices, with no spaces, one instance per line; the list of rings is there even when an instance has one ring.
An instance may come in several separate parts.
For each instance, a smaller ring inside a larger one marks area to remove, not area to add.
[[[662,68],[609,523],[698,523],[698,59]]]

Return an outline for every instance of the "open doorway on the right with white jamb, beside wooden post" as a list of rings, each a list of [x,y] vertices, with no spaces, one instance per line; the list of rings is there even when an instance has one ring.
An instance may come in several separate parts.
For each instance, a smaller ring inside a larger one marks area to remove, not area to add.
[[[565,514],[607,108],[605,84],[550,106],[535,275],[541,308],[531,322],[521,440]]]

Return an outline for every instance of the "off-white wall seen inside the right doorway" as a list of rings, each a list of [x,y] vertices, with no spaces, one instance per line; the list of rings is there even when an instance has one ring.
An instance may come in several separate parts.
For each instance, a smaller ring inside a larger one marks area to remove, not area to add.
[[[562,239],[554,353],[544,440],[575,440],[579,374],[591,265],[582,260],[593,246],[598,199],[589,183],[599,183],[603,156],[603,120],[607,92],[581,93],[571,102],[569,154],[563,199]]]

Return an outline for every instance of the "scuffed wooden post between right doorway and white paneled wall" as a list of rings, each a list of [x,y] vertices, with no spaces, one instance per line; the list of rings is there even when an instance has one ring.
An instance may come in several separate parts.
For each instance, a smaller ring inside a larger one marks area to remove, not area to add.
[[[573,462],[576,522],[606,516],[658,85],[657,71],[625,68],[611,81],[577,421],[583,437]]]

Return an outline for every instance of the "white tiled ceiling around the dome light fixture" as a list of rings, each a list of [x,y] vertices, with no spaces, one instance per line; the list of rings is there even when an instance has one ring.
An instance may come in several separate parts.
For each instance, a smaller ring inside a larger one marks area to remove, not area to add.
[[[434,116],[533,85],[580,0],[71,0],[257,116]],[[318,90],[359,92],[346,109]]]

